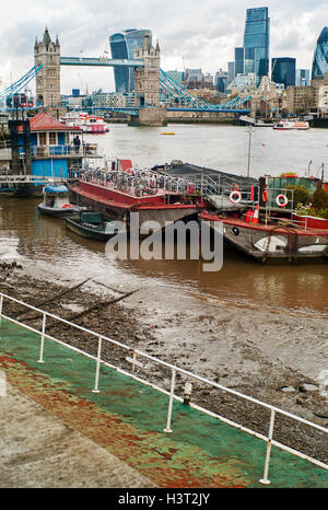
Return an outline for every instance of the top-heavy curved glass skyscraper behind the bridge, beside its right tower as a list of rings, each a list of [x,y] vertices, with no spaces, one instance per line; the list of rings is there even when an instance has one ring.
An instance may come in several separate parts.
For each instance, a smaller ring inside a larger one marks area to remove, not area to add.
[[[110,35],[109,45],[112,58],[133,58],[134,47],[141,48],[148,33],[149,43],[152,44],[152,32],[149,30],[130,28]],[[130,93],[134,90],[133,68],[114,67],[116,92]]]

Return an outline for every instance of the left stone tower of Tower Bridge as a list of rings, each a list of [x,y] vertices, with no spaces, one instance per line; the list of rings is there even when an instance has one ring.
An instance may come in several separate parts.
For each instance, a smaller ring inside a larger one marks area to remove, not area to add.
[[[43,65],[36,76],[36,104],[45,106],[49,113],[60,108],[60,44],[58,36],[54,43],[45,28],[44,37],[34,45],[34,65]]]

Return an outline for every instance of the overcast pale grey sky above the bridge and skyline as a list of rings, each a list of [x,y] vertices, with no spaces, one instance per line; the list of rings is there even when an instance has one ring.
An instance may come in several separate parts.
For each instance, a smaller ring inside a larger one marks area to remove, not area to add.
[[[108,37],[126,28],[150,28],[161,46],[164,70],[227,69],[243,45],[246,9],[269,7],[270,57],[296,57],[311,69],[320,31],[328,25],[328,0],[16,0],[1,1],[0,77],[2,89],[34,65],[35,37],[45,25],[58,34],[62,56],[98,57]],[[183,60],[184,59],[184,60]],[[114,91],[109,68],[61,69],[61,91]],[[32,85],[34,92],[35,85]]]

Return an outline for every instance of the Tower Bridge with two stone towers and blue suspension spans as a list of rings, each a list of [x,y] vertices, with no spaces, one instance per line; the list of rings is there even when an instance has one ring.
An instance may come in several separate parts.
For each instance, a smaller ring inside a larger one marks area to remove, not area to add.
[[[250,109],[245,104],[248,97],[234,97],[219,105],[208,103],[188,90],[178,85],[165,71],[161,69],[161,49],[159,43],[152,46],[148,34],[144,36],[143,45],[134,48],[133,58],[113,59],[107,57],[85,58],[65,57],[60,55],[58,36],[52,42],[46,27],[43,39],[35,40],[34,67],[23,79],[3,91],[5,96],[13,95],[26,80],[36,78],[36,103],[47,107],[50,113],[58,114],[60,108],[60,68],[65,66],[89,66],[89,67],[122,67],[134,70],[134,96],[133,107],[106,108],[113,112],[124,112],[130,119],[137,118],[139,124],[163,125],[169,112],[179,114],[248,114]],[[171,104],[161,104],[161,94],[164,92],[171,98]],[[1,96],[1,93],[0,93]],[[63,108],[62,108],[63,109]],[[101,108],[105,109],[105,108]]]

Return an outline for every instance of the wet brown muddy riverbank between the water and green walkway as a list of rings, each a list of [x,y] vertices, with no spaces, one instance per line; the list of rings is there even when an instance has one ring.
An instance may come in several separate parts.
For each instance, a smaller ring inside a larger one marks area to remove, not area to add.
[[[138,283],[138,285],[136,285]],[[37,265],[3,264],[0,289],[131,348],[189,370],[261,402],[328,425],[325,390],[328,322],[325,315],[236,305],[172,285],[131,279],[113,285],[97,278],[45,274]],[[279,312],[279,313],[278,313]],[[40,316],[17,304],[4,313],[40,328]],[[47,333],[96,353],[96,341],[49,321]],[[131,369],[127,352],[105,346],[103,358]],[[171,372],[144,362],[138,375],[168,390]],[[183,396],[187,378],[178,376]],[[191,399],[251,430],[267,434],[269,412],[204,384],[194,384]],[[327,382],[327,381],[326,381]],[[327,438],[289,418],[278,418],[274,439],[328,462]]]

